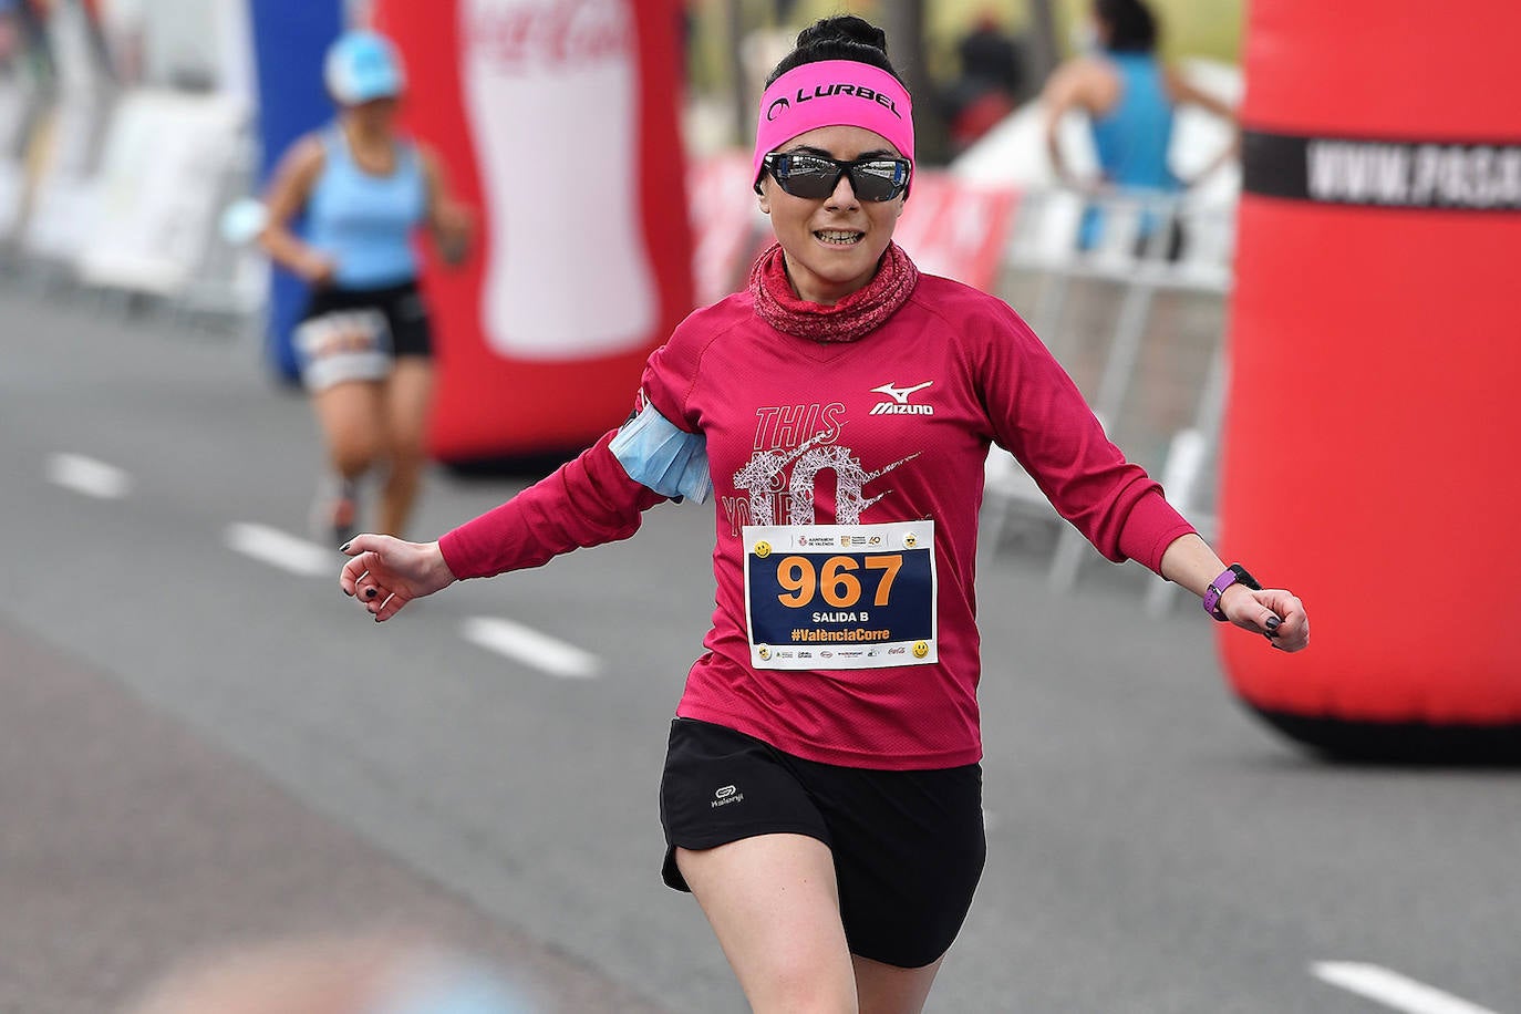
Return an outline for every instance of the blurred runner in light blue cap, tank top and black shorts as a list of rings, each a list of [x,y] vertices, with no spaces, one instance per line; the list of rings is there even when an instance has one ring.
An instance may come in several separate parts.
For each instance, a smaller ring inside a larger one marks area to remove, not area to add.
[[[414,231],[459,263],[473,231],[438,158],[395,128],[405,78],[383,36],[342,35],[324,65],[339,111],[281,157],[260,242],[312,286],[295,330],[301,380],[327,444],[330,474],[313,537],[338,544],[357,526],[359,480],[383,467],[373,528],[403,534],[426,465],[433,337],[418,290]],[[306,213],[306,234],[292,220]]]

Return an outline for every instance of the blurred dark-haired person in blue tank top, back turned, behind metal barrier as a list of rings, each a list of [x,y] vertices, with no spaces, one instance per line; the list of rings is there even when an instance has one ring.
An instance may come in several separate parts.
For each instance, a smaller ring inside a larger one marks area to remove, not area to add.
[[[1092,0],[1089,17],[1088,52],[1057,67],[1042,94],[1046,149],[1057,176],[1066,185],[1098,195],[1129,192],[1139,196],[1173,196],[1235,154],[1238,141],[1221,151],[1194,181],[1179,179],[1168,164],[1176,106],[1192,102],[1230,122],[1235,122],[1235,112],[1162,65],[1156,55],[1157,21],[1144,0]],[[1078,179],[1062,154],[1059,126],[1074,109],[1088,114],[1098,157],[1098,179]],[[1154,213],[1144,214],[1138,242],[1145,245],[1162,228],[1162,222]],[[1176,257],[1182,246],[1182,231],[1176,220],[1170,222],[1167,252]],[[1103,230],[1101,210],[1089,207],[1083,219],[1081,246],[1097,246]]]

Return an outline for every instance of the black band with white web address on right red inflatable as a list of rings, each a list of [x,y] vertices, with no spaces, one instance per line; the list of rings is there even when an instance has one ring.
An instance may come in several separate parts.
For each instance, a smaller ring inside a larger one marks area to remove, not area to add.
[[[1410,141],[1244,131],[1241,187],[1316,204],[1521,211],[1521,141]]]

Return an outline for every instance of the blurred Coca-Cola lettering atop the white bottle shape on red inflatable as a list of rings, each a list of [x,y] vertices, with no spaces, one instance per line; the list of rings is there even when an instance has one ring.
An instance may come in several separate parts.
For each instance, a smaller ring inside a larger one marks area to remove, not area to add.
[[[467,6],[467,38],[476,56],[496,70],[599,64],[630,46],[622,0],[508,0]]]

